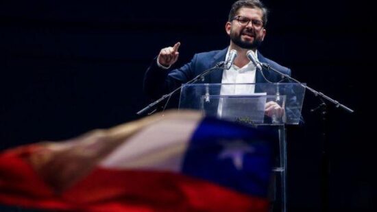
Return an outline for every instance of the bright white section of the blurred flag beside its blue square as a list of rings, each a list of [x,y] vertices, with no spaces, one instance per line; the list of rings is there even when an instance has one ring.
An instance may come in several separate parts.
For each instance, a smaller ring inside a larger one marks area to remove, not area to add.
[[[99,166],[180,172],[182,159],[201,117],[162,119],[136,133]]]

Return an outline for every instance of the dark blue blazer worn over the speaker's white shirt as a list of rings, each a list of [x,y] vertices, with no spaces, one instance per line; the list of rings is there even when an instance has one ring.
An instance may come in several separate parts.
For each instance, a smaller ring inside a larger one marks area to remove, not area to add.
[[[223,50],[208,51],[199,54],[195,54],[191,62],[184,64],[183,67],[179,69],[173,69],[172,71],[161,69],[157,65],[157,58],[154,59],[151,66],[147,69],[144,77],[144,91],[145,93],[153,98],[159,98],[162,95],[170,93],[174,89],[177,89],[183,83],[192,80],[197,75],[203,71],[215,67],[218,62],[224,61],[226,58],[226,53],[228,47]],[[262,54],[258,52],[258,60],[260,62],[267,63],[271,65],[273,69],[277,69],[282,73],[291,75],[291,70],[282,67],[280,64],[273,62],[265,58]],[[263,74],[267,80],[271,82],[279,82],[282,78],[280,75],[273,71],[263,71]],[[223,70],[219,69],[207,75],[202,83],[221,83],[221,78],[223,76]],[[256,83],[267,82],[260,71],[256,71]]]

